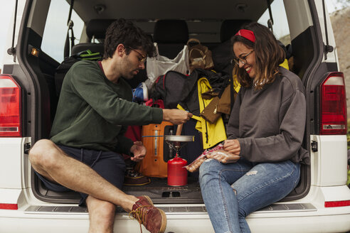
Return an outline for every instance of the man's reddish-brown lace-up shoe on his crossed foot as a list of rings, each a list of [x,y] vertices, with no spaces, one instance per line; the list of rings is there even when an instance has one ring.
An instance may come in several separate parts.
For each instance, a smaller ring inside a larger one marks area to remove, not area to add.
[[[129,216],[139,221],[151,233],[163,233],[166,228],[166,215],[163,210],[154,207],[148,196],[137,197],[139,200],[132,206]]]

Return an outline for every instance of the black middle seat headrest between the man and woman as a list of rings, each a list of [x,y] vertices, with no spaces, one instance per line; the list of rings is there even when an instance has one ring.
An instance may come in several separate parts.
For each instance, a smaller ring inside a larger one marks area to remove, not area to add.
[[[187,43],[189,28],[184,20],[163,19],[156,22],[153,33],[157,43]]]

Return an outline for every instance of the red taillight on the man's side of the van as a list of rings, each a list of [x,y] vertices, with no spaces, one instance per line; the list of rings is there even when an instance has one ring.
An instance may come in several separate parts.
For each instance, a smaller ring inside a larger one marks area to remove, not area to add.
[[[10,75],[0,75],[0,136],[21,136],[21,87]]]

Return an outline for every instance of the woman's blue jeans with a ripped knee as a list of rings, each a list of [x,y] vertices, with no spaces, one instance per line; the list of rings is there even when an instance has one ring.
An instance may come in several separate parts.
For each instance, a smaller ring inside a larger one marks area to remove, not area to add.
[[[281,200],[299,182],[299,163],[202,163],[199,182],[216,233],[250,232],[245,217]]]

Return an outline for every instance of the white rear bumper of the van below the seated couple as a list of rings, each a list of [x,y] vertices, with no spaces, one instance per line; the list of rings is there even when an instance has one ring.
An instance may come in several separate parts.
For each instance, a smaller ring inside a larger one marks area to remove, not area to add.
[[[272,205],[247,217],[252,232],[348,232],[350,207],[316,208],[303,203],[304,210],[286,210],[297,202]],[[213,232],[204,205],[157,205],[166,210],[166,232]],[[65,210],[65,212],[63,211]],[[188,212],[186,211],[188,210]],[[194,211],[196,210],[196,212]],[[71,205],[22,206],[18,210],[0,210],[0,232],[88,232],[85,208]],[[144,232],[147,232],[143,229]],[[139,232],[139,223],[117,210],[115,232]]]

